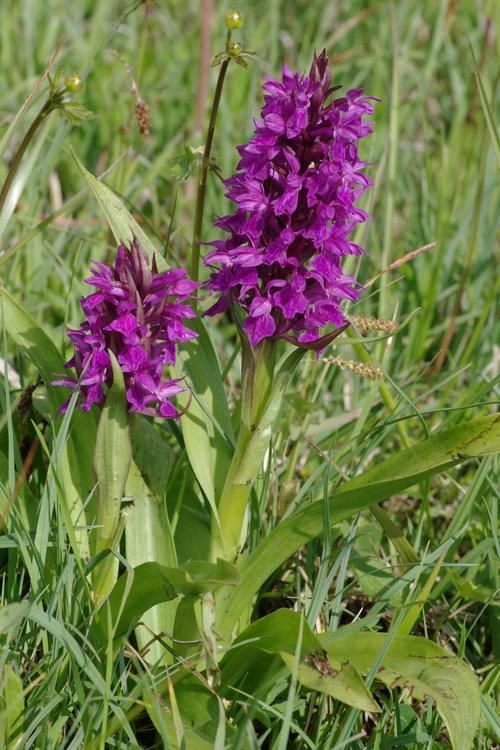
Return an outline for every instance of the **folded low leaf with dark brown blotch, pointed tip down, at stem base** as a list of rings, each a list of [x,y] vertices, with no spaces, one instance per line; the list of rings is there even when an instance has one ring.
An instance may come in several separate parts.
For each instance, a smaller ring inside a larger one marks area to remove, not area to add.
[[[297,612],[278,609],[249,625],[238,636],[221,662],[221,684],[228,695],[231,686],[235,686],[241,678],[246,680],[246,692],[252,692],[254,685],[248,682],[248,678],[252,679],[252,671],[255,672],[255,681],[260,683],[260,689],[263,687],[264,672],[266,682],[277,678],[280,662],[273,663],[268,659],[263,670],[259,652],[279,655],[292,673],[302,627],[298,681],[311,690],[331,695],[362,711],[378,711],[377,703],[356,669],[349,663],[329,660],[317,636],[307,622],[301,623],[301,620]]]

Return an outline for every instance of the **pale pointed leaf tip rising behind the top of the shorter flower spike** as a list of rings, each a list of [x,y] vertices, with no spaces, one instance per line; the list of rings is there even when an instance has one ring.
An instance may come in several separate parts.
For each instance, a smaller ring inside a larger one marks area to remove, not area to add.
[[[73,152],[71,153],[87,185],[94,193],[97,202],[104,211],[116,241],[119,244],[130,247],[134,237],[136,237],[144,250],[151,257],[156,253],[156,258],[160,261],[161,255],[159,255],[156,247],[123,205],[122,201],[102,181],[98,180],[91,172],[85,169]]]

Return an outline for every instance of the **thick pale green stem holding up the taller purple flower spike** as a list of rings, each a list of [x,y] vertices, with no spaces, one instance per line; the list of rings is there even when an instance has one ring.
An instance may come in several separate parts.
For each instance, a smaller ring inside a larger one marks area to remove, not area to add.
[[[279,399],[274,398],[276,341],[264,339],[252,351],[245,342],[242,357],[241,424],[234,455],[213,520],[213,557],[236,559],[250,492],[269,447]],[[273,408],[273,404],[275,404]]]

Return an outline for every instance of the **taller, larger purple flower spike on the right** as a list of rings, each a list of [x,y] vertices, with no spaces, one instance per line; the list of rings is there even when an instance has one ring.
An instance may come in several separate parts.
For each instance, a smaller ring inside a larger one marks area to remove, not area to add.
[[[364,117],[378,100],[361,89],[332,98],[325,51],[309,76],[285,65],[282,81],[268,78],[263,89],[262,120],[225,183],[236,210],[215,222],[228,237],[208,243],[205,264],[219,266],[208,287],[220,297],[207,314],[239,303],[252,346],[314,342],[327,324],[346,323],[341,304],[360,294],[342,259],[364,254],[349,239],[370,218],[354,205],[371,184],[356,142],[372,131]]]

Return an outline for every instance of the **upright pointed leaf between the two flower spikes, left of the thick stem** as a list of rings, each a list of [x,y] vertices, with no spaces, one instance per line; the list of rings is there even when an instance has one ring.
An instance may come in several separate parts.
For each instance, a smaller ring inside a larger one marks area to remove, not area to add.
[[[210,337],[201,321],[191,324],[198,338],[185,344],[178,354],[175,373],[187,377],[187,390],[178,402],[186,413],[181,417],[182,435],[189,462],[215,508],[231,460],[233,429],[219,363]]]

